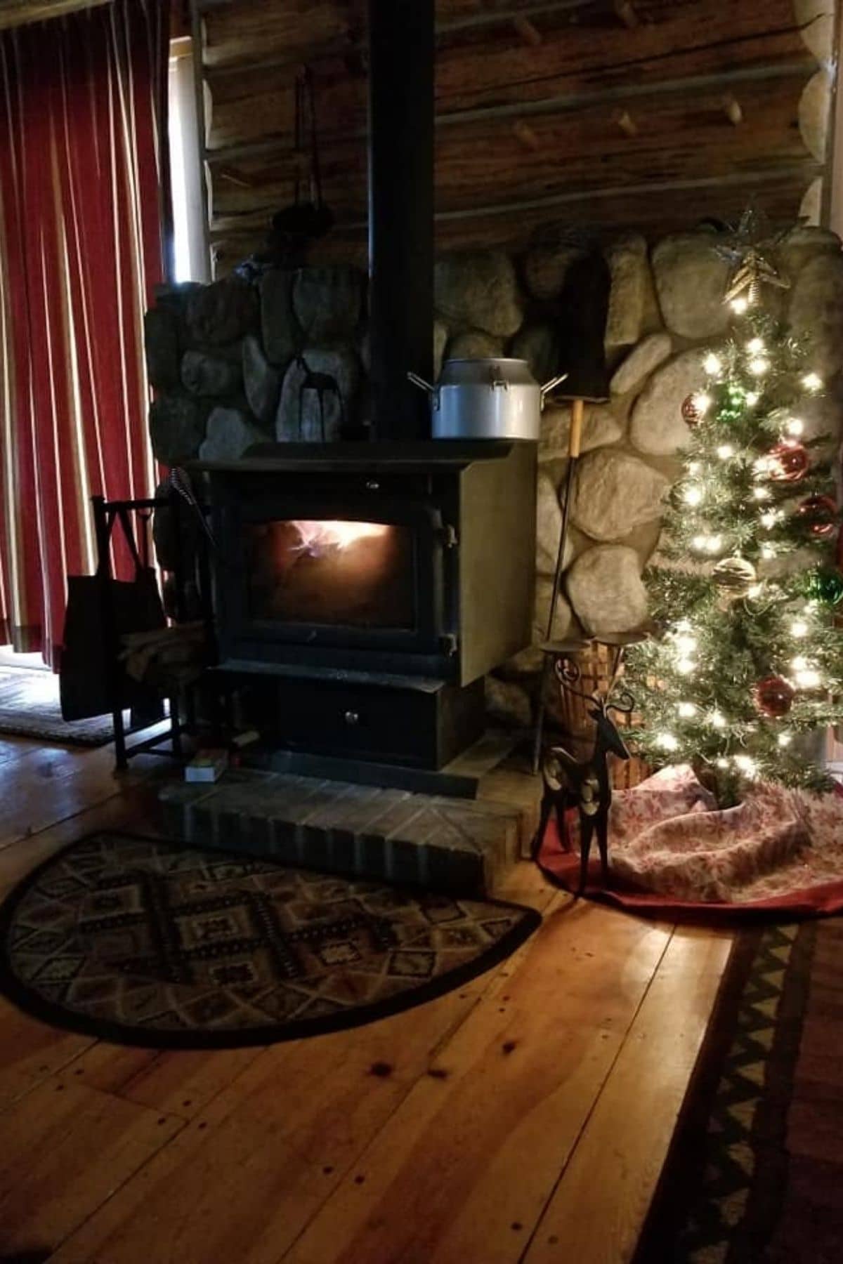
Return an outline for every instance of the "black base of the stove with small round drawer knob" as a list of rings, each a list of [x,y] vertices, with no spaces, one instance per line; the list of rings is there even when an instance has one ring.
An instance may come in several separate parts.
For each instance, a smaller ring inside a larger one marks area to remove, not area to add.
[[[434,691],[277,678],[254,696],[264,741],[289,750],[440,769],[483,732],[483,681]]]

